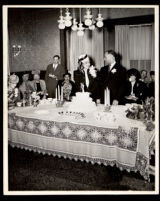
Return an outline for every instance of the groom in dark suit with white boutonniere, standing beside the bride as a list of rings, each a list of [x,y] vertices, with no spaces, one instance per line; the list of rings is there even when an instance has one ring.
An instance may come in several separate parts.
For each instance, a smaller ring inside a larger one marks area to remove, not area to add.
[[[101,91],[101,103],[104,103],[104,90],[110,90],[110,102],[112,105],[123,104],[125,92],[126,69],[117,62],[117,55],[113,50],[105,52],[106,66],[99,72],[99,86]]]

